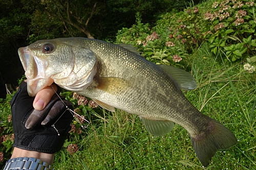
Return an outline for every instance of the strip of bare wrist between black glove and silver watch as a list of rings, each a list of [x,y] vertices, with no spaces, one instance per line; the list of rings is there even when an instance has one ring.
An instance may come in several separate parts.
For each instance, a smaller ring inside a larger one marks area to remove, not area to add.
[[[36,151],[28,151],[28,150],[23,150],[23,149],[14,147],[11,159],[18,158],[18,157],[31,157],[31,158],[40,159],[41,161],[52,165],[53,161],[54,161],[54,155],[55,154],[47,154],[47,153],[36,152]]]

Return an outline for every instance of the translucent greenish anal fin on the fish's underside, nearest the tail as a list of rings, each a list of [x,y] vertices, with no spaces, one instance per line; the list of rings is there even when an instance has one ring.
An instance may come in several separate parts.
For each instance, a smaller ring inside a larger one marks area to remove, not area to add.
[[[174,123],[169,120],[157,120],[148,117],[140,116],[142,123],[145,125],[146,130],[155,136],[162,136],[169,133],[173,127]]]

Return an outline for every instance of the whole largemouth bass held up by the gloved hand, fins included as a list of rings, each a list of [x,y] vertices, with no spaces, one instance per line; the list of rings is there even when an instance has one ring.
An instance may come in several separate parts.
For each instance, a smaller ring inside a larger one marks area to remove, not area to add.
[[[129,45],[88,38],[39,40],[18,50],[28,92],[55,82],[102,108],[139,115],[148,132],[164,135],[174,123],[187,130],[197,157],[208,166],[217,150],[237,143],[226,127],[196,109],[181,89],[195,89],[186,71],[155,65]]]

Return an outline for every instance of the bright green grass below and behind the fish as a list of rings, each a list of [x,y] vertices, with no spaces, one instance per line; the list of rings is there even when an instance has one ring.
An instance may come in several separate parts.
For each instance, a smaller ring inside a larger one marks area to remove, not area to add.
[[[55,169],[256,169],[255,75],[245,72],[242,62],[217,61],[206,44],[189,60],[198,87],[185,95],[236,135],[235,147],[218,151],[204,168],[181,126],[155,137],[138,116],[103,110],[100,115],[91,112],[92,125],[72,137],[78,152],[71,155],[63,148],[56,154]]]

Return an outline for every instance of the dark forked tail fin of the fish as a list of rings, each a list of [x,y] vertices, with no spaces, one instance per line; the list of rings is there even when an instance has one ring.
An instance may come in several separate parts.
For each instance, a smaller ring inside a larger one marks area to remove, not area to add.
[[[231,131],[214,119],[204,133],[197,136],[190,135],[190,139],[197,157],[204,167],[209,165],[211,157],[218,150],[228,149],[238,142]]]

